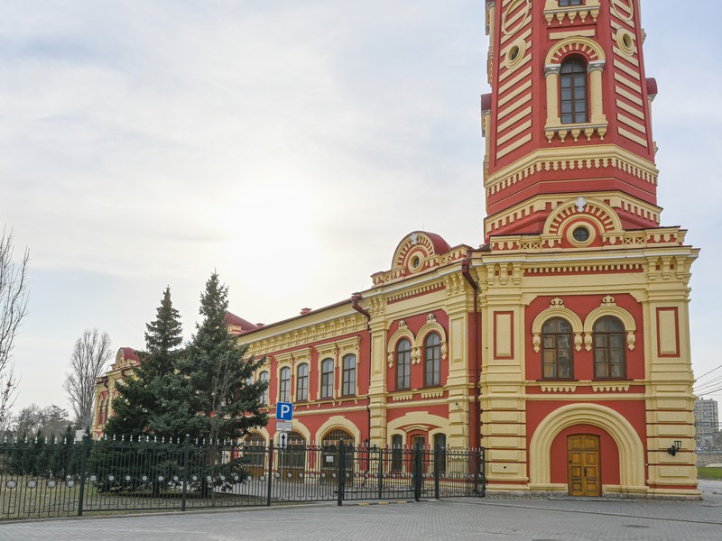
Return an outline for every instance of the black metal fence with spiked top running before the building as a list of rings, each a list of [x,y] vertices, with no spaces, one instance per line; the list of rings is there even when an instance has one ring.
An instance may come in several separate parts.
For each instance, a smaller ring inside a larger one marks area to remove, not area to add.
[[[484,449],[5,440],[0,518],[483,497],[484,472]]]

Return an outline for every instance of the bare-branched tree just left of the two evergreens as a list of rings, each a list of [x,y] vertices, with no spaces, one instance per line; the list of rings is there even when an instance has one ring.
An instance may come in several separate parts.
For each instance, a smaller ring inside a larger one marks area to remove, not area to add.
[[[110,336],[101,335],[97,329],[86,329],[75,343],[63,389],[68,393],[79,429],[90,426],[96,378],[106,370],[111,356]]]

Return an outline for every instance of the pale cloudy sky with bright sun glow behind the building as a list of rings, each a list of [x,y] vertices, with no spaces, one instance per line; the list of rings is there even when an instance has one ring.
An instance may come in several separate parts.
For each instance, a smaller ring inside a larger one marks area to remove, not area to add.
[[[722,3],[642,12],[662,225],[702,249],[700,376],[722,363]],[[190,338],[214,270],[267,324],[368,289],[412,231],[482,243],[486,50],[483,0],[0,3],[0,225],[31,252],[14,412],[69,407],[86,328],[142,348],[166,286]]]

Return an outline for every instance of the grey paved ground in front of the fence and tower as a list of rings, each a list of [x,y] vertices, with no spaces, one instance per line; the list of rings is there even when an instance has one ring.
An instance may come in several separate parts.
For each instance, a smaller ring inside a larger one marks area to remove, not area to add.
[[[722,483],[704,501],[503,498],[0,524],[3,541],[720,541]]]

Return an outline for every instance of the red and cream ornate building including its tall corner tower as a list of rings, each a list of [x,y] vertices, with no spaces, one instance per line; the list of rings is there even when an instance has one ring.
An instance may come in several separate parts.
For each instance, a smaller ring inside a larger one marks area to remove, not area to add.
[[[640,3],[489,1],[486,31],[481,247],[413,232],[370,288],[236,329],[269,411],[291,442],[484,446],[489,491],[699,497],[698,251],[657,206]]]

